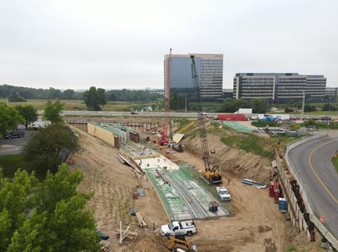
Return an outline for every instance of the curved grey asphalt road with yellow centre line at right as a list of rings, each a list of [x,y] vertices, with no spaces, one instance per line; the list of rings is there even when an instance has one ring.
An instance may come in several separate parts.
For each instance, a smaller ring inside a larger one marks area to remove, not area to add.
[[[336,133],[294,147],[289,158],[313,213],[325,217],[324,225],[338,239],[338,173],[331,161],[337,151]]]

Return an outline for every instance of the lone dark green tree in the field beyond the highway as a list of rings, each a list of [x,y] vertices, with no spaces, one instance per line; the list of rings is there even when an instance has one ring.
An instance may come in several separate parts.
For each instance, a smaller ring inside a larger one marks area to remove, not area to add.
[[[83,100],[86,103],[89,110],[99,111],[101,110],[100,105],[106,105],[106,94],[103,88],[97,88],[91,86],[89,90],[84,91]]]

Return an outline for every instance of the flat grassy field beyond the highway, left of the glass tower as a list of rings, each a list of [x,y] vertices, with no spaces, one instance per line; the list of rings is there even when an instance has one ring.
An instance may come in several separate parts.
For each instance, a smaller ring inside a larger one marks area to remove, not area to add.
[[[6,99],[0,99],[0,102],[6,103]],[[27,100],[27,102],[9,102],[9,105],[14,107],[16,105],[33,105],[37,110],[44,110],[44,105],[47,100]],[[87,110],[83,100],[61,100],[65,103],[63,110]],[[107,102],[103,111],[131,111],[139,110],[142,107],[151,106],[154,102]]]

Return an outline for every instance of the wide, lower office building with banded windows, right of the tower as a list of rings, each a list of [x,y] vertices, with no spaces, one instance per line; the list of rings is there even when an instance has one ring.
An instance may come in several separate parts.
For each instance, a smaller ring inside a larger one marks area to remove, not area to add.
[[[234,77],[233,98],[270,100],[297,100],[325,98],[324,75],[297,73],[238,73]]]

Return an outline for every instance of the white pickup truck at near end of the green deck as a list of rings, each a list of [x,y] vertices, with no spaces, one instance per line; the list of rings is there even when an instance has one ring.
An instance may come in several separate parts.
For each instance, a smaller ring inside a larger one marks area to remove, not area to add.
[[[161,226],[161,234],[168,236],[168,235],[187,235],[191,237],[192,234],[197,232],[197,227],[192,220],[187,221],[173,221],[169,225],[162,225]]]

